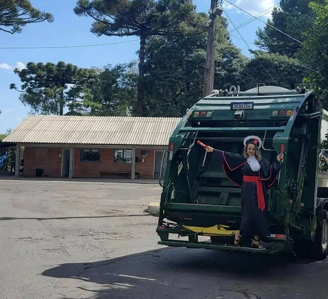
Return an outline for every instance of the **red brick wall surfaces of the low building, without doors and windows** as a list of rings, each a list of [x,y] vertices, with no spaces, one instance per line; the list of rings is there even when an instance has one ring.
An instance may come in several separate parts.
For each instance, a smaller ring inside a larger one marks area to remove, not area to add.
[[[44,175],[61,176],[61,148],[25,147],[24,175],[35,176],[35,169],[44,169]],[[136,150],[136,157],[144,162],[135,164],[135,172],[140,178],[154,177],[154,150],[148,150],[149,157],[141,158],[141,150]],[[100,149],[100,162],[80,162],[80,149],[74,149],[74,177],[100,177],[101,172],[129,171],[131,163],[114,163],[114,149]]]

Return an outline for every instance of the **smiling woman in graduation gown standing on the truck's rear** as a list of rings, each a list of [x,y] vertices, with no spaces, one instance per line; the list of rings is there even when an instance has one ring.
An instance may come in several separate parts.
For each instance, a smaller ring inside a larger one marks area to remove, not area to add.
[[[241,187],[241,224],[239,233],[235,235],[235,245],[239,246],[241,237],[251,237],[252,246],[264,249],[260,237],[269,235],[267,220],[267,203],[270,188],[279,173],[283,153],[270,164],[261,156],[262,141],[258,136],[248,136],[243,141],[242,155],[233,154],[206,146],[207,152],[212,152],[213,158],[222,163],[229,180]]]

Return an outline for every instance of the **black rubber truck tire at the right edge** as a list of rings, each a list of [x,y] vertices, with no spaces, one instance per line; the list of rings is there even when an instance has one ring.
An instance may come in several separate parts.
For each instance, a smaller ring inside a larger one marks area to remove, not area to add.
[[[319,224],[311,248],[311,257],[315,260],[324,260],[328,255],[328,212],[326,210],[322,210]]]

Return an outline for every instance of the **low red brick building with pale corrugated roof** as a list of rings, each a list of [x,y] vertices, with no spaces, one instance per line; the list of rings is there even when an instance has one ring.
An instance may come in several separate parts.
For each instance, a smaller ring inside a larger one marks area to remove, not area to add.
[[[162,155],[179,121],[175,117],[30,115],[4,142],[15,143],[16,152],[24,149],[24,176],[153,178],[159,174]]]

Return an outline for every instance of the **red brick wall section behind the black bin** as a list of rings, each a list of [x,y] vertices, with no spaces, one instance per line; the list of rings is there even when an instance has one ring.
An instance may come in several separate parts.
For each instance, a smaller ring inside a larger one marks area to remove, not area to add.
[[[24,176],[35,176],[35,169],[42,168],[43,175],[61,176],[61,148],[25,147]]]

